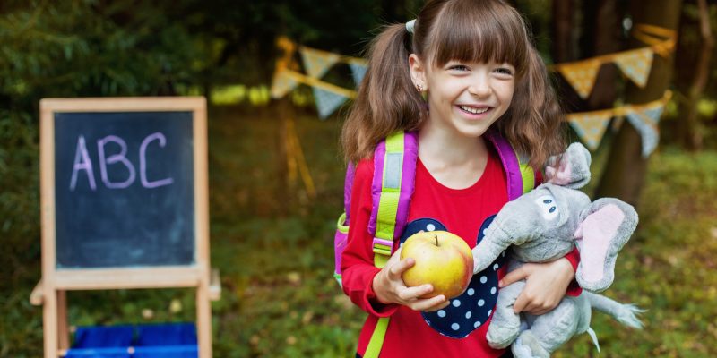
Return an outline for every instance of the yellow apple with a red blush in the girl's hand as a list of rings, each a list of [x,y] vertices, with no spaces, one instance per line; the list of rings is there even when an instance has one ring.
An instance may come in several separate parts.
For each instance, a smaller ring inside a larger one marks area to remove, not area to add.
[[[433,286],[433,292],[420,298],[444,294],[451,299],[471,283],[473,252],[458,235],[440,230],[413,234],[402,245],[401,260],[406,258],[416,261],[403,272],[406,286]]]

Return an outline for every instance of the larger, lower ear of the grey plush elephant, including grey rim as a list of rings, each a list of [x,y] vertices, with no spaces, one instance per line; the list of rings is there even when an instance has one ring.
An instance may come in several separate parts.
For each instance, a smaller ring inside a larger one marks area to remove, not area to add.
[[[580,215],[575,231],[580,264],[575,272],[584,289],[600,292],[612,285],[618,251],[637,226],[637,213],[626,202],[605,198],[595,200]]]

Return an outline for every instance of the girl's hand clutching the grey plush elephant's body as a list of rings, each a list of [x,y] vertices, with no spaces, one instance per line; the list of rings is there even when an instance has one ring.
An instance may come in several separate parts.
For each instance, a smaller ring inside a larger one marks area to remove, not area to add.
[[[527,278],[523,292],[515,300],[513,311],[516,314],[525,311],[539,315],[560,303],[574,277],[573,265],[566,258],[561,258],[545,263],[526,263],[505,275],[498,286],[505,287]]]

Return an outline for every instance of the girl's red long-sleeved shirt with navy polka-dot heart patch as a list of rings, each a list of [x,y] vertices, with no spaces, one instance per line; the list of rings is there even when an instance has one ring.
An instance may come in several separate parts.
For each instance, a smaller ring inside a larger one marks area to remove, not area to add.
[[[481,227],[507,202],[505,172],[497,153],[489,150],[483,175],[466,189],[451,189],[438,183],[418,160],[415,189],[410,202],[408,225],[402,240],[419,230],[445,230],[457,234],[472,248]],[[486,331],[497,298],[497,280],[505,276],[503,262],[474,275],[464,294],[441,311],[413,311],[399,304],[376,300],[373,278],[373,236],[368,233],[371,215],[373,160],[360,162],[351,192],[348,245],[341,257],[342,286],[353,303],[367,311],[368,317],[358,338],[358,354],[364,355],[379,317],[391,316],[382,357],[498,357],[504,350],[488,346]],[[356,229],[362,228],[362,229]],[[394,243],[397,249],[398,241]],[[576,260],[571,260],[576,266]],[[494,266],[494,265],[491,265]],[[485,273],[485,274],[484,274]]]

